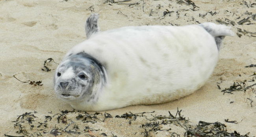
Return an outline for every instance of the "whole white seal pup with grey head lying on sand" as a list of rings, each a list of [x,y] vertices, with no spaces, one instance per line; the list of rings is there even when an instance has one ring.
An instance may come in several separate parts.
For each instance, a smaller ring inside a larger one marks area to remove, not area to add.
[[[231,27],[210,22],[102,32],[98,14],[85,28],[88,40],[65,55],[54,87],[60,99],[86,111],[165,103],[193,93],[212,74],[224,37],[234,36]]]

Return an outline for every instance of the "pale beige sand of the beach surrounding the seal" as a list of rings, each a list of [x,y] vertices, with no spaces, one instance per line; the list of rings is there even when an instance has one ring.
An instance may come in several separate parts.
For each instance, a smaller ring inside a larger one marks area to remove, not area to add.
[[[139,126],[145,124],[145,117],[138,116],[129,124],[129,118],[115,118],[115,115],[129,111],[156,111],[153,115],[168,116],[168,111],[175,115],[177,107],[183,110],[184,117],[189,117],[190,125],[196,125],[198,121],[219,121],[227,126],[228,132],[236,130],[241,135],[250,132],[249,136],[255,136],[256,86],[246,91],[235,91],[233,94],[223,95],[221,90],[245,79],[246,86],[256,83],[251,81],[256,79],[256,76],[251,76],[256,67],[245,67],[256,64],[256,0],[192,1],[198,7],[193,8],[193,5],[187,5],[184,0],[132,0],[119,3],[113,3],[113,0],[0,0],[0,135],[17,135],[15,131],[20,130],[19,126],[14,128],[15,122],[11,121],[16,121],[17,115],[25,112],[37,112],[32,113],[37,116],[32,122],[38,126],[40,123],[37,122],[45,121],[45,115],[53,116],[60,113],[59,110],[72,110],[54,95],[53,75],[57,64],[46,63],[52,69],[49,72],[42,71],[41,68],[48,58],[53,58],[57,63],[61,62],[71,47],[85,40],[86,18],[91,13],[99,13],[102,31],[128,25],[188,25],[215,22],[233,27],[232,30],[237,35],[225,38],[213,75],[204,87],[194,94],[160,105],[129,106],[107,111],[113,118],[95,124],[79,123],[80,130],[89,134],[80,136],[104,136],[100,133],[118,137],[144,136],[145,133],[141,133],[144,129]],[[174,12],[163,16],[164,11],[168,12],[166,9]],[[208,14],[205,15],[206,13]],[[248,22],[239,22],[247,17]],[[239,35],[241,36],[238,37]],[[42,81],[43,85],[22,83],[13,75],[21,81]],[[222,83],[218,84],[220,90],[217,83],[221,81]],[[147,115],[150,117],[150,114]],[[66,127],[71,121],[76,121],[78,113],[68,113],[66,116],[69,119],[67,123],[59,123],[58,126],[62,124]],[[98,117],[102,120],[104,118],[100,114]],[[48,133],[42,133],[43,136],[50,135],[49,132],[56,129],[56,118],[57,116],[47,122],[48,126],[44,131]],[[25,119],[26,117],[23,121],[29,126]],[[241,122],[226,123],[224,119]],[[86,126],[100,130],[89,131]],[[169,128],[169,131],[152,131],[150,136],[171,136],[173,132],[183,136],[186,132],[185,128],[177,123],[161,125],[161,129]],[[30,128],[27,128],[27,131],[30,132]],[[37,136],[35,132],[41,132],[36,127],[32,131],[34,136]],[[75,135],[63,133],[59,136]]]

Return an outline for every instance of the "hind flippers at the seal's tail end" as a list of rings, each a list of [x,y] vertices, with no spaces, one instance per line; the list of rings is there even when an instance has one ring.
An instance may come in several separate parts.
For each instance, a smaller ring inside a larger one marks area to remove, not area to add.
[[[234,32],[231,31],[231,27],[228,27],[226,25],[217,25],[215,23],[206,22],[199,24],[199,26],[203,27],[215,38],[218,50],[220,49],[221,42],[223,41],[225,36],[235,35]]]

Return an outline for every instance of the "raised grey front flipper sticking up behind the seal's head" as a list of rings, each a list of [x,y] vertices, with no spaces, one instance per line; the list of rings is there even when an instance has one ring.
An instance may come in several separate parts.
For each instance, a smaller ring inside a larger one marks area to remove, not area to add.
[[[91,37],[92,34],[95,34],[100,31],[100,27],[98,26],[98,13],[93,13],[89,18],[87,18],[85,23],[85,32],[87,39]]]

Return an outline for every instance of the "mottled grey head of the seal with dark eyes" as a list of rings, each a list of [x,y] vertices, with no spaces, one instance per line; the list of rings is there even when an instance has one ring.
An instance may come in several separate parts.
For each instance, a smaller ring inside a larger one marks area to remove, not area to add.
[[[97,92],[106,82],[104,67],[92,56],[81,52],[59,64],[54,76],[54,90],[64,101],[96,101]]]

